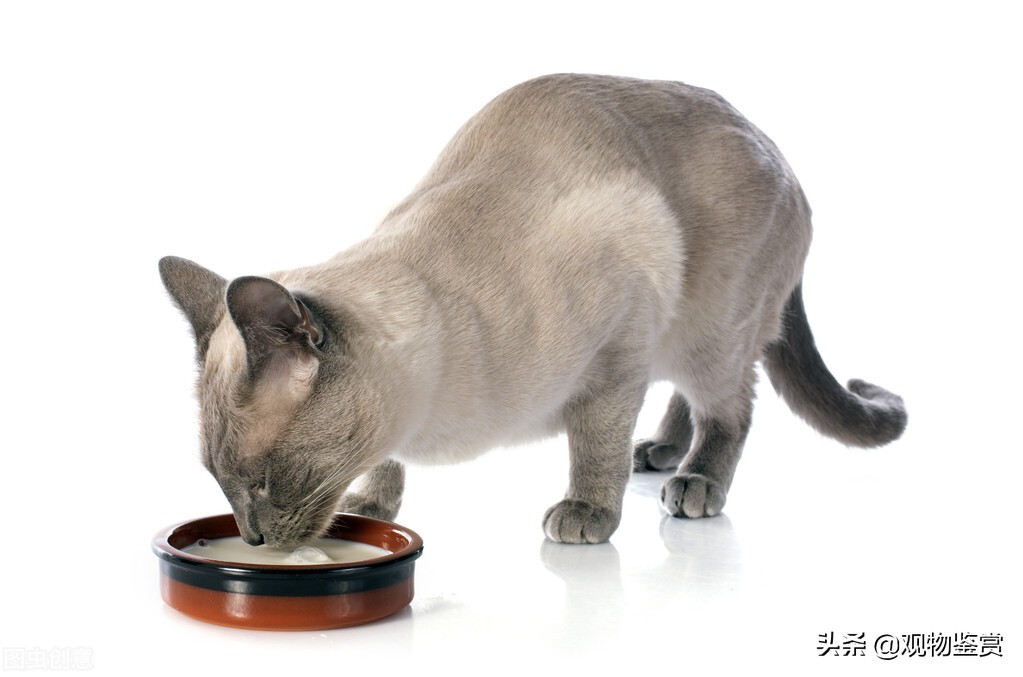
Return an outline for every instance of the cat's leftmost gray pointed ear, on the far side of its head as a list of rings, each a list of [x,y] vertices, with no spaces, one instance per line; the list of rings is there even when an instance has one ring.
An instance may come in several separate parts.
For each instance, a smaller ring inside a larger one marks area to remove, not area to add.
[[[178,257],[160,260],[160,277],[174,303],[188,318],[195,336],[196,355],[203,361],[210,347],[210,336],[224,317],[227,280],[197,263]]]

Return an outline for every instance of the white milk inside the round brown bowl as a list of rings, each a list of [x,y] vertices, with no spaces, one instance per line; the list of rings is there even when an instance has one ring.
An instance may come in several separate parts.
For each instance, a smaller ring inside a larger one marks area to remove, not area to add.
[[[183,548],[189,554],[240,565],[326,565],[362,559],[374,559],[390,554],[389,550],[358,541],[338,538],[317,538],[295,550],[249,545],[240,536],[202,539]]]

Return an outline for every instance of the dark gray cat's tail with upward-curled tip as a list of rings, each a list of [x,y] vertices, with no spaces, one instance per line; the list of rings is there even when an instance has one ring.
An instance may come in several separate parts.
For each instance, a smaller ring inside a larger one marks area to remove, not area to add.
[[[763,364],[774,390],[819,433],[854,447],[880,447],[905,430],[902,398],[852,379],[842,388],[813,343],[797,285],[782,316],[782,336],[764,349]]]

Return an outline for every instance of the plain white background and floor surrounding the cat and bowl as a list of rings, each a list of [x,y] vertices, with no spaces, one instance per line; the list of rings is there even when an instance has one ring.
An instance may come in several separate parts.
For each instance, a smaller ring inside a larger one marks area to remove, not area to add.
[[[364,4],[0,5],[2,667],[1018,671],[1010,3]],[[278,634],[167,608],[152,535],[227,504],[158,259],[227,277],[326,259],[487,100],[551,72],[710,87],[775,140],[814,209],[821,352],[905,398],[905,437],[847,450],[762,383],[723,516],[667,518],[663,477],[636,477],[611,544],[545,543],[552,440],[410,470],[399,521],[427,549],[389,621]],[[866,656],[818,658],[828,632],[865,633]],[[1005,657],[873,655],[885,633],[958,632],[1000,633]]]

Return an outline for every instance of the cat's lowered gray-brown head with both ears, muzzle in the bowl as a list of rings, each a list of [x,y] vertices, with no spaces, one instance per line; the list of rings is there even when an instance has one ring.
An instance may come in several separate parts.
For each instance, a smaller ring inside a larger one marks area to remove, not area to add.
[[[283,546],[319,535],[377,460],[366,437],[373,394],[339,318],[269,278],[228,282],[174,257],[160,273],[195,337],[203,463],[242,538]]]

